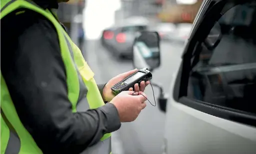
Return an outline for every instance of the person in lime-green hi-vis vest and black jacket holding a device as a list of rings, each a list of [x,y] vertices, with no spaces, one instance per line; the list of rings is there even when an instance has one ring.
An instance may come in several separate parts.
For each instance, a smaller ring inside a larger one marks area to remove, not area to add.
[[[132,92],[145,96],[149,82],[111,93],[136,69],[95,83],[55,16],[58,2],[1,0],[0,154],[109,154],[109,133],[146,106]]]

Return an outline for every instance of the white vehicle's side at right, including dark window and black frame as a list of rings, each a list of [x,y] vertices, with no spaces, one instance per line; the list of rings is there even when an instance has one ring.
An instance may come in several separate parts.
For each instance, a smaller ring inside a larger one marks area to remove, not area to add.
[[[171,86],[164,154],[256,152],[256,1],[212,1]]]

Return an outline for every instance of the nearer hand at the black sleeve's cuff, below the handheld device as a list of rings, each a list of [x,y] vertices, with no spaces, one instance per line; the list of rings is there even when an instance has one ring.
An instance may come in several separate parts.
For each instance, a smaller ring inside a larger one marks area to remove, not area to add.
[[[134,121],[140,111],[146,107],[144,103],[146,101],[146,95],[143,92],[138,92],[142,95],[132,95],[134,91],[122,91],[116,95],[111,102],[119,114],[120,122],[132,122]]]

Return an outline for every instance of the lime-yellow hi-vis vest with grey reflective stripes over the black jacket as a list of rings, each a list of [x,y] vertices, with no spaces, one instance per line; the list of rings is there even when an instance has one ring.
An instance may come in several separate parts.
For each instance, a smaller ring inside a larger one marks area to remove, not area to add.
[[[79,48],[71,41],[50,11],[39,8],[31,1],[1,0],[1,19],[13,10],[22,7],[42,14],[52,22],[57,30],[61,56],[66,68],[68,99],[72,103],[72,112],[81,112],[103,106],[104,102],[93,79],[93,72],[83,59]],[[42,154],[31,135],[19,121],[2,75],[1,110],[4,116],[1,113],[0,154]],[[110,152],[110,134],[105,134],[100,142],[87,148],[81,154],[109,154]]]

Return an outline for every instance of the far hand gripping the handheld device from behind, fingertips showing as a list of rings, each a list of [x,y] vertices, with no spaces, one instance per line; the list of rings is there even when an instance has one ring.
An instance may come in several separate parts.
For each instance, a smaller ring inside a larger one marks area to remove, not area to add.
[[[121,80],[125,79],[126,77],[128,77],[129,75],[137,72],[138,70],[137,69],[134,69],[134,70],[131,70],[131,71],[128,71],[128,72],[125,72],[125,73],[122,73],[122,74],[119,74],[115,77],[113,77],[112,79],[110,79],[106,85],[104,86],[103,88],[103,100],[104,101],[111,101],[113,98],[114,98],[114,95],[112,94],[112,90],[111,90],[111,87],[114,86],[116,83],[120,82]],[[141,91],[141,92],[144,92],[145,90],[145,87],[150,83],[150,81],[141,81],[140,82],[140,85],[138,86],[138,84],[136,83],[134,85],[134,89],[130,88],[129,90],[130,91]]]

